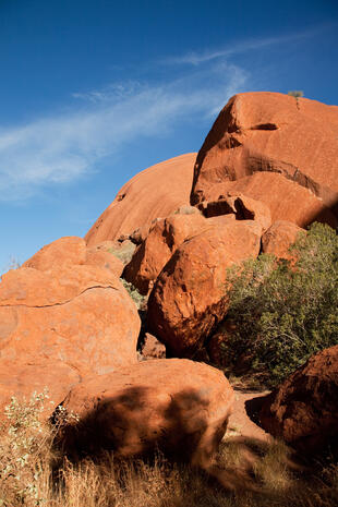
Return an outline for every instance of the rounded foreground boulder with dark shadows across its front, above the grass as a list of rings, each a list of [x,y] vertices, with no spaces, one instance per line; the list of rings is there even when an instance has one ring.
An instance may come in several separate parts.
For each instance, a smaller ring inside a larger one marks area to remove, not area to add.
[[[160,448],[207,466],[226,432],[233,398],[224,374],[206,364],[141,362],[71,390],[63,407],[80,422],[65,428],[64,447],[108,448],[122,457]]]

